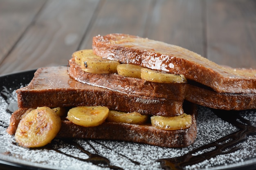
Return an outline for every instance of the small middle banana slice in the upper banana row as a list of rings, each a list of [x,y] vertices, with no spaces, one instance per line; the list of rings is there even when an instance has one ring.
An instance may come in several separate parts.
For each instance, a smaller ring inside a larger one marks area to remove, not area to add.
[[[119,64],[117,65],[117,73],[124,77],[133,77],[140,79],[141,68],[143,67],[134,64]]]

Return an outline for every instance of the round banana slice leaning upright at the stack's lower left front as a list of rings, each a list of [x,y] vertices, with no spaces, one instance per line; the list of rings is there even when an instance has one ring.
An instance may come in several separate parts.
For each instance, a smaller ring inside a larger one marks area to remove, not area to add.
[[[26,148],[49,144],[61,128],[61,118],[49,107],[31,110],[20,120],[16,142]]]

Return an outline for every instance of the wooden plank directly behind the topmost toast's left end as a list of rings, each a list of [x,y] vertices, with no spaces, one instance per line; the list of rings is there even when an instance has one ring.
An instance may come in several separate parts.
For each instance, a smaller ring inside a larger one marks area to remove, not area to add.
[[[109,33],[143,36],[151,0],[106,0],[101,3],[79,49],[91,49],[92,38]]]

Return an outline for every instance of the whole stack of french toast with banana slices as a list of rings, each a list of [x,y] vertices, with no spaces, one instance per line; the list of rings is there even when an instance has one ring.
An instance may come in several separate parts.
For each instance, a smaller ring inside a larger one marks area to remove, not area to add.
[[[220,66],[179,46],[98,35],[68,66],[38,68],[16,91],[7,132],[23,147],[54,138],[106,139],[180,148],[196,138],[196,104],[256,108],[256,71]]]

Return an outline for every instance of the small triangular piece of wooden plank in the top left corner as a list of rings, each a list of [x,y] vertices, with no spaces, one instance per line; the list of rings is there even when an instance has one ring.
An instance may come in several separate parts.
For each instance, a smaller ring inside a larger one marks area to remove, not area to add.
[[[45,0],[1,0],[0,1],[0,63],[11,51]]]

